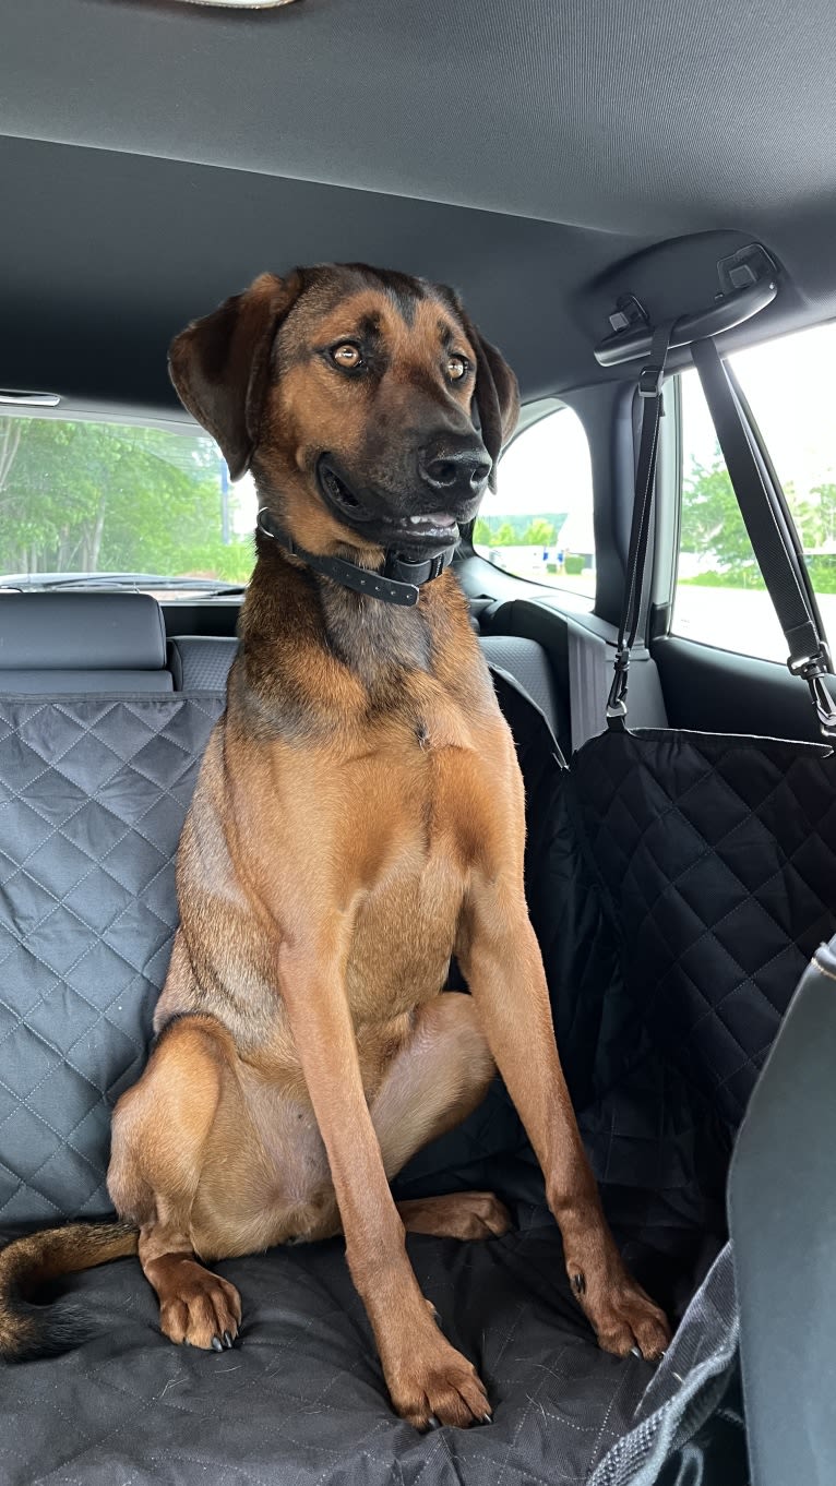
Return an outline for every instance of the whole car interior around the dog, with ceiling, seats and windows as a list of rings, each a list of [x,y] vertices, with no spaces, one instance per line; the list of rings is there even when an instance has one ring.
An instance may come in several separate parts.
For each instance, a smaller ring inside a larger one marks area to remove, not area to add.
[[[222,1265],[247,1317],[217,1357],[161,1336],[119,1260],[36,1297],[91,1336],[0,1364],[0,1480],[832,1483],[833,6],[0,21],[1,1238],[112,1211],[254,560],[251,484],[168,346],[263,270],[370,263],[454,285],[519,379],[454,571],[580,1131],[677,1327],[657,1366],[597,1348],[497,1080],[396,1178],[512,1210],[503,1238],[409,1238],[491,1428],[391,1412],[339,1239]]]

